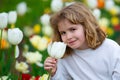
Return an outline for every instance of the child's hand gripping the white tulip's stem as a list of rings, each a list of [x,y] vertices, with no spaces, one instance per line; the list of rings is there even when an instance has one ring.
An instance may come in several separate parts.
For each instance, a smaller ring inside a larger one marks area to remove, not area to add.
[[[48,72],[51,71],[51,75],[53,76],[57,70],[57,59],[52,58],[52,57],[48,57],[45,62],[44,62],[44,69],[47,70]]]

